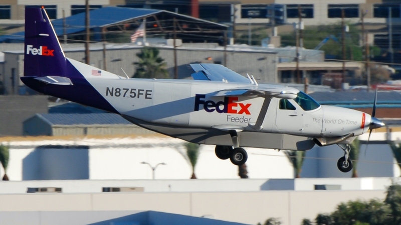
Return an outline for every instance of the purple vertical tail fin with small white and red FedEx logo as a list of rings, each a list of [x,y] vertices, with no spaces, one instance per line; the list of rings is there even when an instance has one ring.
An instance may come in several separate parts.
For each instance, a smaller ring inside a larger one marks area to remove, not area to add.
[[[24,51],[24,76],[66,75],[66,57],[43,8],[25,8]]]

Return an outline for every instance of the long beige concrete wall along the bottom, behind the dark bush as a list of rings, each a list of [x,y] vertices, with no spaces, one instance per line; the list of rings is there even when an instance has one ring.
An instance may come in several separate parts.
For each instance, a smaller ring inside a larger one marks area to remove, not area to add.
[[[282,224],[298,225],[303,218],[313,219],[318,213],[333,211],[340,202],[384,197],[385,192],[382,190],[26,193],[0,194],[0,211],[155,210],[193,216],[207,215],[248,224],[263,223],[268,217],[279,217]],[[4,223],[2,219],[5,217],[0,217],[0,223]]]

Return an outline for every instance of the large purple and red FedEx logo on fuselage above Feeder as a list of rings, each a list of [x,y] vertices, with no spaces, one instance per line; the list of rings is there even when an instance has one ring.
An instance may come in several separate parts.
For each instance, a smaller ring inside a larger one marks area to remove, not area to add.
[[[206,94],[195,94],[195,111],[199,111],[199,105],[203,104],[207,112],[217,111],[219,113],[247,114],[250,115],[249,106],[251,103],[244,104],[238,101],[238,97],[224,97],[224,101],[214,102],[212,100],[205,101]],[[223,106],[223,108],[221,107]]]

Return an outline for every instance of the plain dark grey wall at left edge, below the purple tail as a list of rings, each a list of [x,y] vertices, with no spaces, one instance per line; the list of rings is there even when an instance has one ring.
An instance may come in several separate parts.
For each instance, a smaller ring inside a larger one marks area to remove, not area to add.
[[[47,96],[0,95],[0,135],[23,135],[23,121],[47,113]]]

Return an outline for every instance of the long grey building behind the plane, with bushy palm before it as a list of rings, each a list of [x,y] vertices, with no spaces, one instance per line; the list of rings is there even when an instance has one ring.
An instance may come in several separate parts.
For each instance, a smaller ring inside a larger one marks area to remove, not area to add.
[[[91,65],[107,70],[109,72],[126,77],[121,68],[129,75],[135,73],[133,62],[137,61],[136,53],[140,52],[143,46],[134,44],[107,44],[106,54],[103,55],[103,44],[91,45]],[[159,55],[164,58],[166,68],[173,77],[174,74],[174,57],[173,47],[169,45],[155,45],[159,48]],[[63,45],[63,50],[67,57],[78,61],[84,61],[85,50],[82,45]],[[248,47],[229,46],[226,49],[218,44],[207,43],[206,47],[202,44],[182,44],[176,48],[177,65],[179,78],[190,77],[193,70],[188,70],[188,63],[219,63],[224,64],[225,58],[227,67],[246,75],[253,74],[259,78],[261,82],[277,82],[277,52],[270,48],[260,47],[252,49]],[[4,51],[4,75],[3,83],[5,86],[5,94],[18,94],[20,86],[20,75],[24,73],[24,50]],[[317,54],[316,54],[317,53]],[[322,51],[311,50],[310,54],[322,58]],[[104,67],[104,58],[106,66]]]

